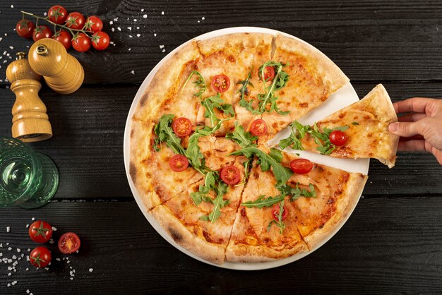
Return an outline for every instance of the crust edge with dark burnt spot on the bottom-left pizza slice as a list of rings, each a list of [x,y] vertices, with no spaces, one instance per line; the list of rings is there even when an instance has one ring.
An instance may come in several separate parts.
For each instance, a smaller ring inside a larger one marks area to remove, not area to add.
[[[149,213],[167,234],[174,239],[175,243],[211,263],[217,265],[224,263],[225,247],[203,241],[191,233],[167,207],[159,205],[153,208],[153,210],[150,210]]]

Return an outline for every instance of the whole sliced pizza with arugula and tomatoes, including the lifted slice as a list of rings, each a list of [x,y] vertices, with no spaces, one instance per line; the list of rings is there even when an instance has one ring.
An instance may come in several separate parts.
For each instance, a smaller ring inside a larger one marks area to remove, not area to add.
[[[187,42],[131,117],[129,174],[142,209],[177,245],[217,265],[321,245],[350,215],[367,176],[285,149],[393,167],[398,145],[381,85],[313,126],[298,122],[348,82],[317,49],[283,35]],[[278,147],[267,144],[287,127]]]

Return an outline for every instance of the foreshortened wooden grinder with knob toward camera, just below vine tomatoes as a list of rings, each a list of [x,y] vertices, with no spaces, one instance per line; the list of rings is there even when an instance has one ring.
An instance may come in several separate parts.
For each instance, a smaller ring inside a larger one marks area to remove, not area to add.
[[[69,94],[83,83],[85,73],[77,59],[54,39],[38,40],[29,49],[31,68],[43,76],[55,92]]]

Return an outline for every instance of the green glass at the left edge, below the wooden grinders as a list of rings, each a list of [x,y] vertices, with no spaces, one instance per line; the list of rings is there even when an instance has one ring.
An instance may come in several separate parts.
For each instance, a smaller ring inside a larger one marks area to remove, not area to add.
[[[0,207],[41,207],[58,185],[59,171],[47,155],[20,140],[0,136]]]

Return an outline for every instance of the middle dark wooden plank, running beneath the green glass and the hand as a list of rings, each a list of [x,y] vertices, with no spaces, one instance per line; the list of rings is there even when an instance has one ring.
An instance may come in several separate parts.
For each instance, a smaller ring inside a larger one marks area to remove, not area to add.
[[[393,101],[437,97],[442,83],[384,83]],[[353,83],[363,97],[376,83]],[[126,116],[137,87],[80,88],[73,95],[40,91],[54,138],[33,146],[54,159],[60,185],[56,198],[131,197],[123,160]],[[0,134],[10,135],[14,97],[0,89]],[[371,160],[364,194],[441,193],[442,167],[427,153],[400,152],[393,169]]]

